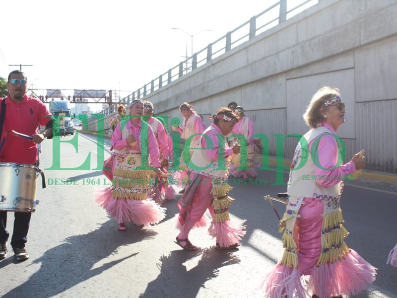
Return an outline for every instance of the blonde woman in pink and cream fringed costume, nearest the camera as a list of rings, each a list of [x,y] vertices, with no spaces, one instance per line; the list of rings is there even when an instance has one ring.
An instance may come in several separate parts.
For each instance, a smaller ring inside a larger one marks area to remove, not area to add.
[[[314,94],[303,115],[311,129],[300,139],[291,164],[287,207],[279,224],[280,231],[285,228],[285,249],[260,287],[265,297],[305,298],[311,293],[313,298],[341,298],[357,295],[375,281],[376,268],[344,242],[343,178],[364,166],[359,153],[343,164],[344,145],[336,131],[345,113],[339,90],[327,86]],[[307,289],[303,275],[310,275]]]

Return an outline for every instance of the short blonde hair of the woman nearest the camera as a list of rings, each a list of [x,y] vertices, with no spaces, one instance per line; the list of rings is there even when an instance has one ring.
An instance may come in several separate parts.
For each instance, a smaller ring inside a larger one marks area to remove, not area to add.
[[[324,107],[328,109],[324,104],[335,95],[340,95],[339,89],[330,86],[324,86],[314,93],[312,100],[306,108],[305,114],[303,114],[303,119],[309,127],[316,128],[319,124],[324,122],[325,118],[321,113],[321,108]]]

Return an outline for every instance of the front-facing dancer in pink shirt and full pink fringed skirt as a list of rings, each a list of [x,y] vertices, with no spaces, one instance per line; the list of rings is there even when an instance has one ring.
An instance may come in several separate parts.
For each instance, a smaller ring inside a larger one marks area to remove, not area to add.
[[[126,229],[126,222],[149,226],[165,218],[165,209],[148,198],[150,173],[161,174],[159,150],[150,126],[141,121],[143,102],[133,100],[130,117],[117,124],[112,134],[115,155],[112,187],[97,191],[96,202]],[[153,169],[148,166],[150,156]],[[150,171],[152,170],[152,171]]]

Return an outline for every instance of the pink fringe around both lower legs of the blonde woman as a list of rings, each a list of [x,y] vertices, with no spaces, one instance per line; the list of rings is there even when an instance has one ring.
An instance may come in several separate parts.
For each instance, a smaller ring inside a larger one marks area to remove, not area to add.
[[[350,250],[341,261],[315,266],[307,290],[298,270],[277,264],[266,276],[259,289],[265,297],[305,298],[308,292],[321,298],[338,295],[358,295],[375,281],[376,268],[356,251]]]

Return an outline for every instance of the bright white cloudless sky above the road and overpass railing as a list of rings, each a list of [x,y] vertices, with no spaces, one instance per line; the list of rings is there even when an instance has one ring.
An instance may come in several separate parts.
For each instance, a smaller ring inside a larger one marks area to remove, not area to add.
[[[0,76],[32,65],[22,70],[34,89],[134,91],[183,61],[186,47],[190,56],[191,37],[172,27],[200,32],[198,52],[274,2],[4,0]]]

